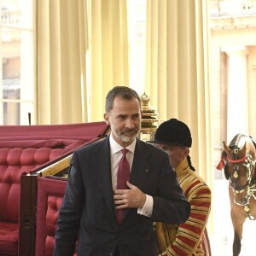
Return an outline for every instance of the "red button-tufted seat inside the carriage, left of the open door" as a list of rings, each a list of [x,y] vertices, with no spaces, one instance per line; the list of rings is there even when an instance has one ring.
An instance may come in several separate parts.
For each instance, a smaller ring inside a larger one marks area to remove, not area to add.
[[[26,140],[0,142],[0,255],[18,255],[20,179],[84,142]],[[9,145],[19,148],[6,148]],[[68,149],[67,149],[68,148]]]

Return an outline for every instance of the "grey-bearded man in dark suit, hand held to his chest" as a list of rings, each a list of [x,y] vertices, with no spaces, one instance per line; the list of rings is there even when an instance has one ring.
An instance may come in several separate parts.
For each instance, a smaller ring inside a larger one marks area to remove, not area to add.
[[[73,153],[54,256],[73,255],[76,241],[79,256],[155,256],[153,223],[181,224],[189,218],[190,204],[168,154],[137,138],[142,117],[137,92],[114,87],[105,110],[109,137]],[[122,148],[128,149],[126,156]],[[131,174],[119,189],[119,161],[125,157]]]

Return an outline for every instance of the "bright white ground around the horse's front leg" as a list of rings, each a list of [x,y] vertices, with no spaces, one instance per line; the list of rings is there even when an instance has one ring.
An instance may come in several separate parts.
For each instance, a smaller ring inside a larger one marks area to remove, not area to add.
[[[232,256],[233,226],[230,219],[228,182],[216,180],[212,205],[213,232],[210,232],[212,256]],[[213,194],[213,192],[212,192]],[[213,208],[214,207],[214,208]],[[212,234],[211,234],[212,233]],[[239,256],[256,256],[256,220],[247,219],[243,225],[243,238]]]

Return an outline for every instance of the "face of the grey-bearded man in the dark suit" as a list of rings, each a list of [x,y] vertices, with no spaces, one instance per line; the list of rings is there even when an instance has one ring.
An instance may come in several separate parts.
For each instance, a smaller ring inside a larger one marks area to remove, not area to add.
[[[141,109],[136,97],[125,100],[119,96],[113,100],[113,109],[104,114],[107,125],[110,125],[113,139],[127,147],[137,137],[141,128]]]

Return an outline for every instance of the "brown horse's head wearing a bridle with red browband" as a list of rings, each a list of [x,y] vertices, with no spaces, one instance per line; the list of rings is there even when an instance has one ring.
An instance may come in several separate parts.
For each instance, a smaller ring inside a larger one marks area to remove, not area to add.
[[[224,173],[230,180],[237,205],[247,205],[253,193],[251,189],[255,188],[255,152],[252,139],[243,134],[237,134],[229,146],[224,142]]]

